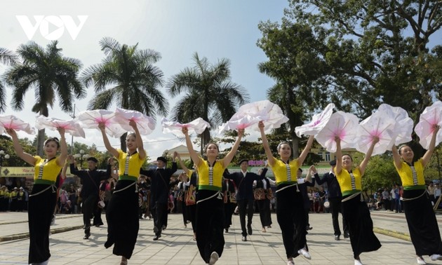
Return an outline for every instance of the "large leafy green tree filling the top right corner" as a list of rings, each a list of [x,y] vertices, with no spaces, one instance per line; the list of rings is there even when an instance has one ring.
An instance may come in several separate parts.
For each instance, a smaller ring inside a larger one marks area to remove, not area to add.
[[[285,14],[326,47],[318,55],[328,69],[323,89],[341,99],[342,110],[365,118],[382,102],[417,123],[441,99],[442,46],[429,44],[440,34],[440,1],[290,0]]]

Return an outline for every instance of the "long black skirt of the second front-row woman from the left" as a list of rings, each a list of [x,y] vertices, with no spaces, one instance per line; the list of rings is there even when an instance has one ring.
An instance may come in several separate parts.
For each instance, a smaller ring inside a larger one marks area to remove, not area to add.
[[[106,210],[107,242],[105,247],[114,245],[112,252],[126,259],[132,257],[140,228],[138,192],[135,192],[136,183],[134,183],[132,180],[119,180]]]

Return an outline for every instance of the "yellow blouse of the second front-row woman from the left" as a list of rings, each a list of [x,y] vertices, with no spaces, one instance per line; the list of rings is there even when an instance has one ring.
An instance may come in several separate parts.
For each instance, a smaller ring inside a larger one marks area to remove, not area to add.
[[[140,158],[140,154],[135,153],[132,156],[128,156],[128,153],[116,149],[118,151],[118,165],[119,165],[119,179],[137,180],[140,175],[140,168],[145,159]],[[126,161],[127,167],[126,167]]]

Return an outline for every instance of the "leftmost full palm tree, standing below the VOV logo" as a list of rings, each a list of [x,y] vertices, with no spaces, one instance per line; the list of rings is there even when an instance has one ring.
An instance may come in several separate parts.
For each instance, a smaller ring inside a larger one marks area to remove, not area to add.
[[[14,88],[12,107],[22,110],[23,97],[29,88],[35,89],[36,102],[32,111],[48,116],[48,107],[53,108],[55,99],[62,111],[72,112],[74,99],[86,97],[86,90],[81,85],[78,74],[81,69],[79,60],[63,57],[58,41],[52,41],[46,50],[31,41],[18,47],[17,54],[22,63],[15,64],[6,72],[6,83]],[[43,155],[44,129],[37,137],[37,154]]]

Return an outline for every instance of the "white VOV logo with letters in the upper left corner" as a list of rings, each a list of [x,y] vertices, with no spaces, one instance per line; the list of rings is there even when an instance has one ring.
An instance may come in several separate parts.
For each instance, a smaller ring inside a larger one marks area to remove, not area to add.
[[[50,41],[59,39],[65,33],[65,29],[67,29],[72,39],[75,40],[88,19],[88,15],[77,15],[76,17],[79,20],[78,25],[76,25],[74,18],[70,15],[34,15],[35,22],[34,25],[32,25],[27,15],[15,16],[22,26],[27,39],[32,39],[36,30],[40,29],[41,36]]]

